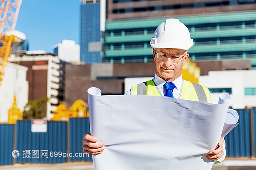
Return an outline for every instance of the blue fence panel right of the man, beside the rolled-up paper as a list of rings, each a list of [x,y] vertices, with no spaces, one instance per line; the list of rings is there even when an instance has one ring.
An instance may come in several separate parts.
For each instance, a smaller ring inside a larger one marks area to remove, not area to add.
[[[224,138],[228,157],[250,157],[250,110],[237,110],[239,125]]]

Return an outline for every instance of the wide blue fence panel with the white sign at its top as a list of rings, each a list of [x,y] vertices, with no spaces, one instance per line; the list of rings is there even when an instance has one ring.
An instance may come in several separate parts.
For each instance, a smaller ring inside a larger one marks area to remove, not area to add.
[[[18,163],[64,163],[67,153],[66,122],[47,122],[46,133],[32,133],[31,121],[17,121]],[[37,153],[37,154],[36,154]]]

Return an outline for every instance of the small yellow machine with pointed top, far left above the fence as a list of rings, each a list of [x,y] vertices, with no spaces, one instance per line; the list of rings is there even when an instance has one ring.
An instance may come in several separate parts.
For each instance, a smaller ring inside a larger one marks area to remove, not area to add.
[[[8,111],[8,124],[16,124],[17,120],[22,120],[22,111],[18,108],[16,95],[14,95],[14,102]]]

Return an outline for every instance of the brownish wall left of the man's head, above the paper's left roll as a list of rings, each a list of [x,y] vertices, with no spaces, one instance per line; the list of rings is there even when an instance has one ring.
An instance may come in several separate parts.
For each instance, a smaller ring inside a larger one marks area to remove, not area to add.
[[[154,77],[155,63],[96,63],[66,65],[65,101],[71,106],[77,99],[88,102],[87,89],[97,87],[102,95],[124,94],[126,77]]]

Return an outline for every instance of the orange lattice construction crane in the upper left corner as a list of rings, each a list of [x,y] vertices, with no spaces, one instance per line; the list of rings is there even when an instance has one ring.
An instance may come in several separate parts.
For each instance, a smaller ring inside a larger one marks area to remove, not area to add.
[[[6,64],[11,55],[12,44],[16,41],[12,32],[15,30],[22,0],[0,0],[0,85]],[[9,33],[5,36],[6,33]]]

